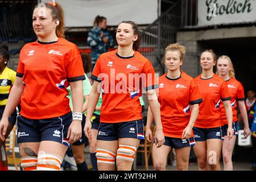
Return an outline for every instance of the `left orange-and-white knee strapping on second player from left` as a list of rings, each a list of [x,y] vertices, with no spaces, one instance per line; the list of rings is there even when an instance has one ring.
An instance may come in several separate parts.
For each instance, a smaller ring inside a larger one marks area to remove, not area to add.
[[[113,154],[113,152],[110,152],[108,150],[97,148],[96,157],[97,157],[97,163],[108,163],[108,164],[115,163],[115,154]]]

